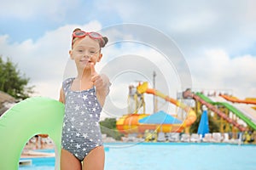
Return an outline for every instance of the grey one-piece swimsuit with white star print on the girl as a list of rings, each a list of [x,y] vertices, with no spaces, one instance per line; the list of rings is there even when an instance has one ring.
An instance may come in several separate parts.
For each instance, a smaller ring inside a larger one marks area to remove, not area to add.
[[[95,88],[72,91],[74,78],[62,83],[65,93],[65,116],[62,128],[61,147],[79,161],[83,161],[91,150],[102,145],[99,126],[102,107],[96,99]]]

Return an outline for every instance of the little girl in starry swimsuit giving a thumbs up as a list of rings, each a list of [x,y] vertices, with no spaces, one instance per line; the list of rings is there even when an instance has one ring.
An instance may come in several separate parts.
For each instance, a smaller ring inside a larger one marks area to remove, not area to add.
[[[104,169],[99,119],[110,82],[107,76],[96,73],[95,65],[101,61],[101,48],[107,42],[108,38],[97,32],[79,28],[73,31],[69,54],[76,64],[78,76],[67,78],[61,88],[60,101],[65,104],[61,170]]]

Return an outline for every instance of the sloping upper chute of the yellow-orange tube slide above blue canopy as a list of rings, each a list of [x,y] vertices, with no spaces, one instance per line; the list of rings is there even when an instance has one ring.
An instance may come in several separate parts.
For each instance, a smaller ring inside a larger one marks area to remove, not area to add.
[[[188,105],[184,105],[183,103],[177,101],[176,99],[170,98],[166,94],[160,93],[160,91],[154,88],[148,88],[148,82],[143,82],[143,84],[139,85],[137,87],[137,91],[140,94],[144,94],[144,93],[153,94],[162,99],[166,99],[166,101],[171,102],[173,105],[176,105],[177,107],[180,107],[181,109],[183,109],[183,111],[185,111],[188,114],[187,118],[183,121],[183,127],[189,127],[191,126],[191,124],[195,122],[196,114],[192,108],[190,108]]]

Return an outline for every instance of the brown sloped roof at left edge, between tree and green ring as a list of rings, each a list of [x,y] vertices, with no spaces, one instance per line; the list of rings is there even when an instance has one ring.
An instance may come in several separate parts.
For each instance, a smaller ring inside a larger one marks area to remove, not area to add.
[[[10,107],[15,105],[16,101],[17,100],[11,95],[0,91],[0,116],[2,116],[5,111],[9,110]]]

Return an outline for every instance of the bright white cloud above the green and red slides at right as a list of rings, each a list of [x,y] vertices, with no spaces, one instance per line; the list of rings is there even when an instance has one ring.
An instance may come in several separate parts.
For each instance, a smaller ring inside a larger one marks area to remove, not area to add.
[[[231,58],[223,49],[205,51],[189,59],[194,88],[226,90],[246,98],[256,94],[256,57],[241,55]]]

